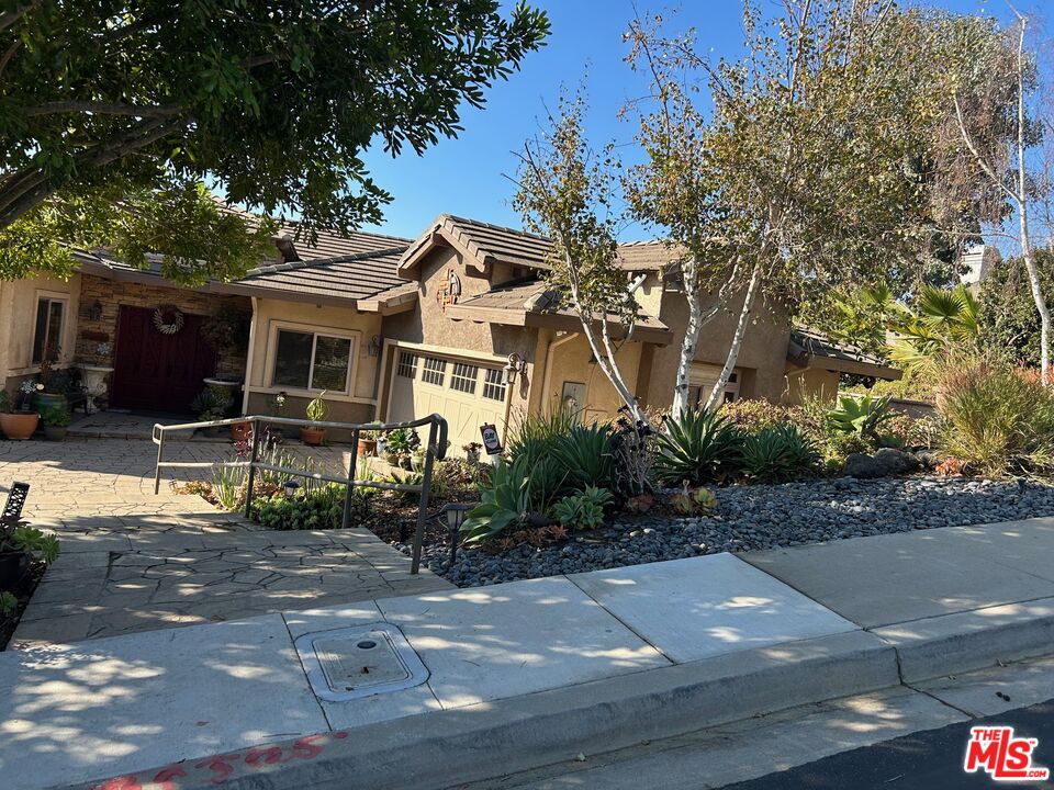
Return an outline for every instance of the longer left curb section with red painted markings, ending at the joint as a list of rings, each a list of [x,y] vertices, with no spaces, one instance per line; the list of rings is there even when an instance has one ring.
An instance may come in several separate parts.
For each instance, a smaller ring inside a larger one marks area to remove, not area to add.
[[[899,682],[894,648],[850,631],[66,787],[431,790]]]

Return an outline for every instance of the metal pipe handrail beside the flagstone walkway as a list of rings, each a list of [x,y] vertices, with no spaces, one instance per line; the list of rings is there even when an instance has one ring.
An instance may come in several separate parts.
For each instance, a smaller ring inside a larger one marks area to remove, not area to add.
[[[178,431],[194,431],[202,428],[216,428],[221,426],[239,425],[249,422],[253,425],[251,452],[248,461],[216,461],[209,463],[205,461],[166,461],[165,443],[168,433]],[[351,460],[348,462],[347,477],[337,475],[327,475],[319,472],[309,472],[307,470],[295,470],[288,466],[277,466],[259,460],[260,435],[262,431],[256,429],[261,425],[282,425],[311,428],[334,428],[337,430],[351,431]],[[425,467],[419,485],[413,483],[385,483],[383,481],[356,479],[356,461],[358,460],[359,436],[363,431],[386,433],[400,428],[423,428],[428,426],[428,441],[425,444]],[[411,561],[410,572],[418,573],[421,569],[421,551],[425,535],[425,521],[428,516],[428,495],[431,490],[431,474],[436,461],[442,461],[447,452],[447,421],[439,415],[433,414],[416,420],[407,422],[322,422],[306,419],[295,419],[290,417],[269,417],[266,415],[249,415],[247,417],[231,417],[220,420],[204,420],[199,422],[180,422],[178,425],[154,425],[150,435],[154,443],[157,444],[157,463],[154,469],[154,493],[158,494],[161,488],[162,469],[213,469],[214,466],[242,467],[248,469],[248,479],[245,494],[245,516],[248,518],[253,512],[253,488],[256,483],[256,471],[266,470],[278,474],[287,474],[291,477],[306,477],[311,479],[323,481],[326,483],[337,483],[347,487],[344,497],[344,517],[341,527],[347,528],[351,520],[351,494],[355,487],[360,488],[381,488],[385,490],[406,492],[417,494],[419,505],[417,509],[417,527],[414,531],[414,548]]]

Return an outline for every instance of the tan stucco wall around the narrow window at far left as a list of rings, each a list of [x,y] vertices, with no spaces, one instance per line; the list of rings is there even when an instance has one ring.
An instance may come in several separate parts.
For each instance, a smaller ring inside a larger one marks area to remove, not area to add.
[[[44,295],[67,298],[58,366],[66,366],[74,360],[80,313],[80,275],[75,274],[68,281],[47,276],[4,281],[0,283],[0,383],[4,388],[16,386],[40,371],[40,366],[32,362],[33,332],[37,297]]]

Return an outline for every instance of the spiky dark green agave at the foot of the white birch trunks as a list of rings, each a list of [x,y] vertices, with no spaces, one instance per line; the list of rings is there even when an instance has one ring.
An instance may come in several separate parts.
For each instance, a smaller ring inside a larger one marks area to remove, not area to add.
[[[655,478],[666,485],[700,485],[735,477],[743,441],[742,431],[706,410],[666,418],[666,432],[655,437]]]

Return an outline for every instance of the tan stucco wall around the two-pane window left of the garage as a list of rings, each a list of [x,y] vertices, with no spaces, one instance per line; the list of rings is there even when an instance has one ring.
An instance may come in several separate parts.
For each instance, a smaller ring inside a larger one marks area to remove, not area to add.
[[[287,386],[272,386],[271,372],[276,331],[280,326],[303,331],[327,330],[355,338],[349,393],[327,393],[329,419],[344,422],[373,419],[373,384],[379,357],[369,356],[370,339],[381,334],[381,317],[374,313],[359,313],[350,307],[255,300],[250,360],[248,365],[248,413],[270,414],[270,400],[279,392],[289,396],[285,416],[302,418],[307,403],[317,393]]]

